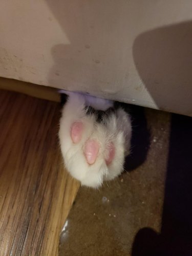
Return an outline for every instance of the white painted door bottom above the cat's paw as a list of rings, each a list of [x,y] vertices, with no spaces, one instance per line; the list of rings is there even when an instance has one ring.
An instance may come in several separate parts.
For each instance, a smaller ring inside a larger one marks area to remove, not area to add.
[[[190,0],[1,0],[0,36],[0,76],[192,115]]]

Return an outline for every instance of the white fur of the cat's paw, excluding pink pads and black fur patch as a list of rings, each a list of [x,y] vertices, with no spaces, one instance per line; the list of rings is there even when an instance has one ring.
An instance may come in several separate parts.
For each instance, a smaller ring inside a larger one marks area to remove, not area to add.
[[[60,119],[59,139],[65,166],[71,175],[82,185],[99,187],[104,180],[112,180],[123,171],[124,157],[129,152],[131,141],[131,122],[128,114],[119,108],[117,114],[111,114],[105,125],[98,124],[95,115],[86,115],[86,106],[106,110],[113,106],[109,100],[67,92],[69,99],[62,109]],[[74,122],[82,122],[83,133],[79,143],[71,139],[71,126]],[[100,148],[94,164],[89,165],[83,154],[88,139],[99,142]],[[125,141],[126,140],[126,141]],[[105,160],[109,143],[115,146],[115,156],[110,165]]]

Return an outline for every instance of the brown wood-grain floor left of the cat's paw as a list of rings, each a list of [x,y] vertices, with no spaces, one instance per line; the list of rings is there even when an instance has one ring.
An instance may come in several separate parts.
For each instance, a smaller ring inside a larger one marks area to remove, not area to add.
[[[58,103],[0,90],[1,255],[57,255],[78,182],[63,168]]]

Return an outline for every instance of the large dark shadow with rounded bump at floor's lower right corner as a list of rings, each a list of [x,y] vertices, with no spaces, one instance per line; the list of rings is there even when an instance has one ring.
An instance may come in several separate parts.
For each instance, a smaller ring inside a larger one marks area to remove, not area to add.
[[[192,119],[172,115],[161,233],[142,228],[132,256],[192,255]]]

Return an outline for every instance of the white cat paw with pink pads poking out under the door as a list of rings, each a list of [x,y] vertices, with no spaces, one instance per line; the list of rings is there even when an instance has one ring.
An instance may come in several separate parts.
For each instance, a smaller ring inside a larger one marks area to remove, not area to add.
[[[130,147],[130,117],[122,109],[114,110],[111,101],[70,92],[62,110],[59,139],[71,175],[82,185],[98,187],[123,170]]]

